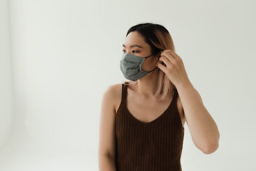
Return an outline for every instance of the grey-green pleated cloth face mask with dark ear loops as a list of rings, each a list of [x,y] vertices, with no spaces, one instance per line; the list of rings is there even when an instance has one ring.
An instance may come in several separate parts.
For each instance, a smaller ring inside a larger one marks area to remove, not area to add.
[[[153,56],[153,55],[150,55],[150,56]],[[150,72],[142,71],[141,69],[142,63],[146,58],[150,56],[139,57],[130,53],[123,53],[122,58],[120,60],[120,70],[122,71],[123,76],[126,79],[136,81],[141,77],[144,77],[147,74],[151,73],[152,71],[158,69],[157,67],[151,70]]]

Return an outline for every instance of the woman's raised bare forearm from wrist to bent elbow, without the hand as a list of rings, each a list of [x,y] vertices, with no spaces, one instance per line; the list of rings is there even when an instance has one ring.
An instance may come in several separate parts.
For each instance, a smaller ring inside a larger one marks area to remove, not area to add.
[[[190,82],[179,84],[176,88],[194,144],[205,154],[214,153],[219,147],[220,133],[200,94]]]

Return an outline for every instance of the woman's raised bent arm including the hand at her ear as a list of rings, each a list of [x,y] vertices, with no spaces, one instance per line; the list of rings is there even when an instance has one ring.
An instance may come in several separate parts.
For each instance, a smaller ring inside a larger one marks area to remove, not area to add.
[[[205,108],[200,94],[188,79],[181,57],[173,50],[163,50],[160,56],[157,66],[177,88],[194,144],[205,154],[215,152],[219,147],[220,139],[217,124]],[[161,61],[166,66],[162,65]]]

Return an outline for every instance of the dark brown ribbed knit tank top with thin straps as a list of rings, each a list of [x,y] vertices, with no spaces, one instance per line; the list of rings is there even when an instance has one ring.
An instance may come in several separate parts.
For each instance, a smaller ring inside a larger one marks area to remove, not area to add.
[[[178,92],[165,112],[151,122],[135,118],[126,107],[127,85],[115,115],[117,171],[181,169],[184,127],[177,109]]]

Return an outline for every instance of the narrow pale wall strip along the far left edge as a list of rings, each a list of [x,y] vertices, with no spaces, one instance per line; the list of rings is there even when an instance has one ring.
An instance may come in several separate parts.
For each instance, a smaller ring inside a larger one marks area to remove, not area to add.
[[[11,75],[8,1],[0,1],[0,150],[1,146],[6,143],[12,126],[13,87]]]

